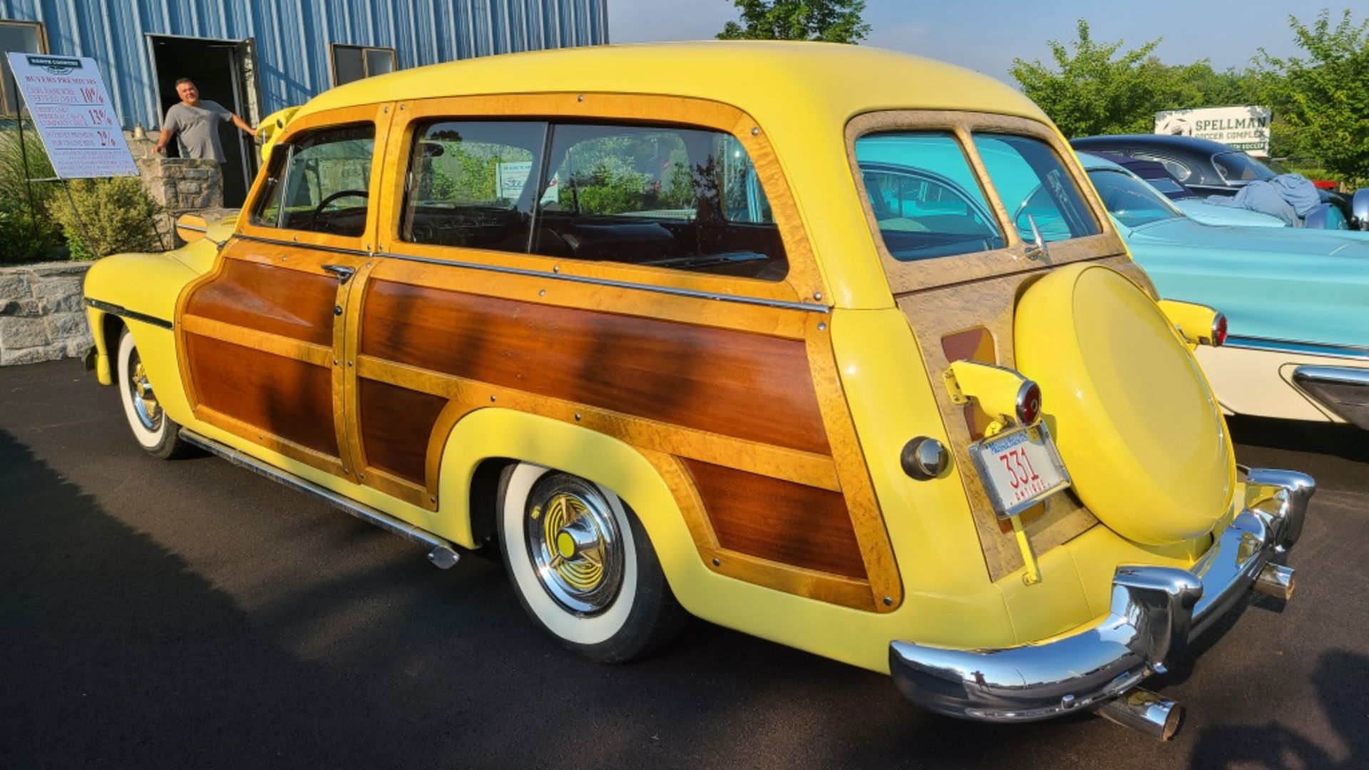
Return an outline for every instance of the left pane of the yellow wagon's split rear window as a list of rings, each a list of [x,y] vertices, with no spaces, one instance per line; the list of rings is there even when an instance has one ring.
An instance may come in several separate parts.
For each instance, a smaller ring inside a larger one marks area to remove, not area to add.
[[[856,140],[875,225],[899,262],[1003,248],[984,192],[960,144],[942,132]]]

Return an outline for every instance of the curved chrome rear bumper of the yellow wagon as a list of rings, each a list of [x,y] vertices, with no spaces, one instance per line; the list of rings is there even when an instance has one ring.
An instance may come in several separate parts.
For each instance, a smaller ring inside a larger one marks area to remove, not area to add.
[[[1292,591],[1279,567],[1302,534],[1312,477],[1254,469],[1244,510],[1191,569],[1121,566],[1102,623],[1042,644],[949,649],[909,641],[888,648],[898,689],[923,708],[986,722],[1029,722],[1097,708],[1161,674],[1188,640],[1235,607],[1268,569],[1268,584]],[[1285,593],[1287,595],[1287,593]]]

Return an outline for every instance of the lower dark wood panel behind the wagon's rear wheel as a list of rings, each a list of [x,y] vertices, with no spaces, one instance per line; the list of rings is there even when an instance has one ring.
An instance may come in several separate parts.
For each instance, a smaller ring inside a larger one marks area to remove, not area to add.
[[[694,478],[719,547],[865,580],[865,560],[839,492],[698,460],[683,462]]]

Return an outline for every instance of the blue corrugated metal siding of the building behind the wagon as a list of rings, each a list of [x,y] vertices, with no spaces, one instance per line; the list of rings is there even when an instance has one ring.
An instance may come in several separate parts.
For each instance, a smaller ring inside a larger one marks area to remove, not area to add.
[[[329,47],[394,48],[400,69],[608,42],[608,0],[0,0],[48,48],[100,63],[125,129],[162,125],[148,34],[252,38],[261,114],[333,85]]]

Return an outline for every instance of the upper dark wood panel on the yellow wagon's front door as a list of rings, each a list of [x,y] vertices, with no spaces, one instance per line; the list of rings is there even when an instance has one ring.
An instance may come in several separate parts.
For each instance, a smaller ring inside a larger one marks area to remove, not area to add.
[[[242,259],[225,259],[219,275],[197,286],[183,312],[333,347],[338,281]]]

